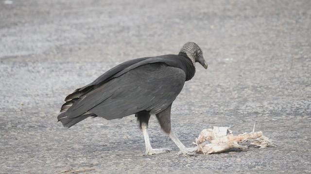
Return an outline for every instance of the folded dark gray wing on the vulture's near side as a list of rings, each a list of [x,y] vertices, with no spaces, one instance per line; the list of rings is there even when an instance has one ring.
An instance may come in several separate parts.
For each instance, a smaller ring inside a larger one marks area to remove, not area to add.
[[[67,111],[76,117],[89,112],[105,119],[140,111],[157,114],[177,97],[185,83],[183,70],[157,62],[135,67],[77,100]]]

